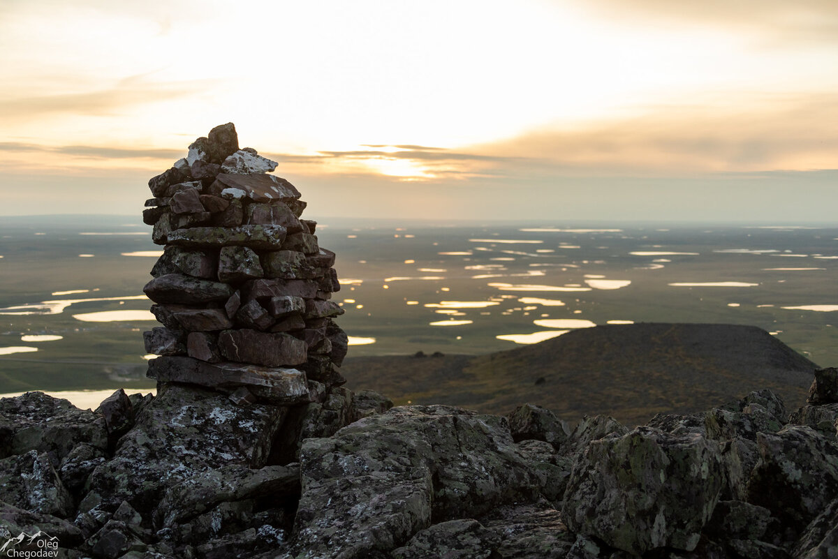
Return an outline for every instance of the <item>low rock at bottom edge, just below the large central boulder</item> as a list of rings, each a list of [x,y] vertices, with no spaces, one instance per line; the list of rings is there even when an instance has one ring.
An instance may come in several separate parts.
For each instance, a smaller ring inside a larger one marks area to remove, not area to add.
[[[473,519],[440,522],[419,531],[391,552],[393,559],[489,559],[500,545],[501,535]]]

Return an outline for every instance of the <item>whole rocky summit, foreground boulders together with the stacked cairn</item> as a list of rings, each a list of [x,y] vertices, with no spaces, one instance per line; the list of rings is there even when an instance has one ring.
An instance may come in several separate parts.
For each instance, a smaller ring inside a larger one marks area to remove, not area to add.
[[[838,369],[796,411],[766,389],[634,428],[394,408],[342,386],[334,254],[276,165],[228,124],[149,182],[157,395],[0,400],[0,555],[838,557]]]

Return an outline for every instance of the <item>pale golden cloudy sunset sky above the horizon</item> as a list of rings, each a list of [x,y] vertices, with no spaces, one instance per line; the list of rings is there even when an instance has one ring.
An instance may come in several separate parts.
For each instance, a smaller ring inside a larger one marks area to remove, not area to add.
[[[835,0],[3,0],[0,215],[232,121],[308,217],[831,222],[835,69]]]

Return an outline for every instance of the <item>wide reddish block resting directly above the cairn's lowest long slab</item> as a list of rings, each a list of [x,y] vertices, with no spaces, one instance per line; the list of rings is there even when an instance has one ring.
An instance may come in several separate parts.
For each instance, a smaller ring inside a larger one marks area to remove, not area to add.
[[[287,334],[256,330],[225,330],[218,345],[221,355],[230,361],[256,363],[265,367],[283,367],[306,362],[306,344]]]

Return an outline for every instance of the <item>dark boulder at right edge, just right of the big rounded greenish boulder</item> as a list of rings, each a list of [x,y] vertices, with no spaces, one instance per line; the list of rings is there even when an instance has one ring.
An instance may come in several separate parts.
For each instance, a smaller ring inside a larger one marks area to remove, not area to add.
[[[784,527],[802,531],[838,498],[838,446],[801,425],[759,433],[757,444],[748,502],[771,510]]]

